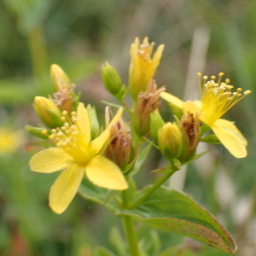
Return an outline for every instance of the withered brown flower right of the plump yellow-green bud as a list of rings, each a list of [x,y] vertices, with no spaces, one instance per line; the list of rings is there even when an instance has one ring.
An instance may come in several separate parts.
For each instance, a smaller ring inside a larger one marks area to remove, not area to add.
[[[183,146],[178,160],[185,163],[192,159],[195,155],[196,147],[200,142],[199,118],[193,113],[183,114],[181,120],[181,131],[183,138]]]

